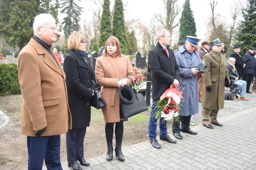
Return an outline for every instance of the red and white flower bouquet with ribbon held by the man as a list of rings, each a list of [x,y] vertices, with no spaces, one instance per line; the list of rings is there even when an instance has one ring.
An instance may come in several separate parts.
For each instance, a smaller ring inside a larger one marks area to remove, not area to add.
[[[168,88],[160,97],[160,100],[155,102],[153,106],[155,107],[152,111],[155,111],[153,117],[157,119],[157,122],[160,120],[160,117],[163,118],[163,122],[167,123],[167,120],[172,120],[176,117],[176,121],[179,119],[179,103],[182,98],[182,92],[178,88],[170,87]],[[156,123],[157,123],[156,122]]]

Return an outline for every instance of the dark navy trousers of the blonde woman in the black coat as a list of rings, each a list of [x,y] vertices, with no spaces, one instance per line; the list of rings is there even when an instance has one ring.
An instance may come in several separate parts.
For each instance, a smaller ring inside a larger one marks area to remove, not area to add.
[[[77,158],[84,157],[84,136],[86,127],[68,130],[66,133],[67,160],[76,162]]]

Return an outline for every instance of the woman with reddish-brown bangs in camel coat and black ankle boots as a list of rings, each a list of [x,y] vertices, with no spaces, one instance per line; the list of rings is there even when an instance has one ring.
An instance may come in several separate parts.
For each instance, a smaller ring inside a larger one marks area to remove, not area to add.
[[[101,97],[106,102],[106,107],[102,108],[108,146],[106,158],[108,161],[113,159],[112,140],[115,123],[115,154],[118,160],[124,161],[121,144],[125,120],[120,118],[118,88],[121,85],[131,85],[130,79],[126,77],[134,80],[135,74],[128,56],[121,54],[120,42],[116,37],[111,36],[107,39],[103,55],[96,59],[95,75],[98,84],[101,85]]]

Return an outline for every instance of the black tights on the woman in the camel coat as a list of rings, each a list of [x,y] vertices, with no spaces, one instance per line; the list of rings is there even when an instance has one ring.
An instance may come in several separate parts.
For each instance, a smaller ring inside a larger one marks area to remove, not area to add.
[[[123,140],[123,122],[115,122],[115,135],[116,143],[122,143]],[[107,138],[107,143],[111,143],[114,134],[114,123],[107,123],[105,125],[105,133]]]

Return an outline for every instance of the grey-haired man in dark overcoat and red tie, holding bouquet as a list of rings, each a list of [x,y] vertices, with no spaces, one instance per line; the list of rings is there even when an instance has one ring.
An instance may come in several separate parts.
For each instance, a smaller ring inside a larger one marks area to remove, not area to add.
[[[170,47],[171,36],[169,30],[161,29],[157,33],[157,45],[149,51],[148,63],[152,70],[152,99],[153,105],[160,100],[160,96],[172,86],[178,86],[179,84],[179,67],[176,62],[174,53]],[[149,118],[149,139],[150,143],[155,148],[161,148],[157,142],[157,119],[153,117],[156,109],[152,107],[152,112]],[[172,140],[167,134],[166,123],[162,123],[163,118],[159,120],[160,127],[160,140],[165,140],[169,143],[176,143],[176,140]]]

